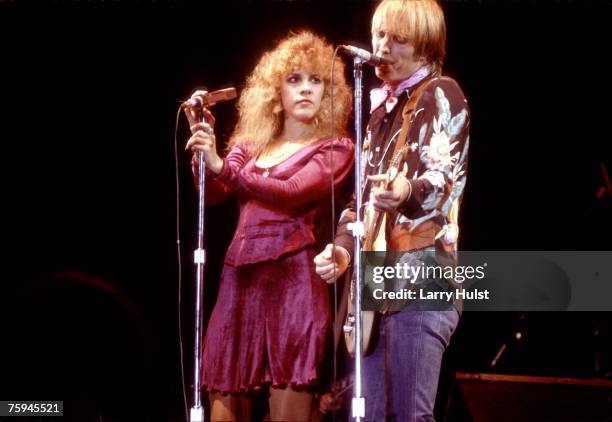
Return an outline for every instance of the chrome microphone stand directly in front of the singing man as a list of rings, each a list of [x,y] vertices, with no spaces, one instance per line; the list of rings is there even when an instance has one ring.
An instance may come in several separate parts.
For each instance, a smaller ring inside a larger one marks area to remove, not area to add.
[[[361,394],[361,375],[363,358],[363,338],[361,322],[361,239],[364,234],[364,226],[361,221],[361,179],[363,177],[361,168],[361,101],[362,101],[362,70],[363,59],[359,56],[353,57],[353,77],[355,78],[355,209],[356,220],[353,223],[353,239],[355,241],[354,272],[355,272],[355,378],[353,388],[353,400],[351,402],[353,418],[356,422],[365,417],[365,399]]]

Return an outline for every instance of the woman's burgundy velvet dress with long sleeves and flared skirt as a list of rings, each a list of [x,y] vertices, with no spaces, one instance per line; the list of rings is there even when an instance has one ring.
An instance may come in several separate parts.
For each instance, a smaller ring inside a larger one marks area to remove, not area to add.
[[[204,340],[206,390],[316,384],[330,311],[313,258],[330,209],[330,155],[338,187],[353,164],[349,139],[320,139],[268,169],[236,147],[219,175],[207,177],[207,196],[222,200],[235,192],[240,216]]]

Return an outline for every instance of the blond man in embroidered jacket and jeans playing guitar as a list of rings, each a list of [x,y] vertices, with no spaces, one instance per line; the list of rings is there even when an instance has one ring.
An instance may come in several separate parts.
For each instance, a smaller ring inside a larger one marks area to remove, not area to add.
[[[384,0],[374,13],[373,51],[388,63],[376,67],[384,84],[371,93],[363,198],[372,198],[374,208],[386,213],[386,250],[406,251],[402,259],[413,265],[456,259],[469,114],[457,83],[440,76],[445,42],[444,15],[435,0]],[[407,103],[413,108],[403,141],[409,149],[407,171],[382,189],[378,185],[395,144],[402,142]],[[353,206],[340,218],[335,249],[327,245],[315,258],[317,273],[328,282],[346,271],[352,258],[354,219]],[[459,321],[458,308],[408,306],[381,315],[378,341],[363,360],[367,421],[433,420],[442,355]]]

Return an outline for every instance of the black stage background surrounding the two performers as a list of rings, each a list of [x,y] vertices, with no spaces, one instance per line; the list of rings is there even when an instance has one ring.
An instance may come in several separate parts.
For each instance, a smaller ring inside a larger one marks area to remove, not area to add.
[[[290,29],[367,48],[374,6],[0,1],[2,400],[63,399],[80,420],[182,420],[176,108],[196,88],[240,88]],[[609,169],[611,157],[610,2],[443,7],[445,70],[472,111],[461,247],[609,249],[601,166]],[[368,69],[366,88],[374,83]],[[233,103],[215,107],[219,139],[231,133],[234,111]],[[185,139],[181,118],[179,150]],[[188,159],[181,151],[191,382],[196,197]],[[235,216],[233,204],[208,210],[208,311]],[[444,374],[605,377],[610,320],[605,313],[465,314]],[[512,341],[518,329],[525,336]],[[505,342],[510,347],[490,369]]]

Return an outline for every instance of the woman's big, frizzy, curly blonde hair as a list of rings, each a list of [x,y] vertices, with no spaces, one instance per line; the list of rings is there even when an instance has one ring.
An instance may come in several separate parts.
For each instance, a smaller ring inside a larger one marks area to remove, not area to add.
[[[331,68],[333,48],[309,31],[291,33],[276,48],[266,52],[246,81],[238,100],[238,123],[228,148],[240,146],[257,155],[283,129],[282,81],[299,69],[318,74],[325,83],[321,108],[313,119],[313,138],[346,135],[351,112],[351,90],[344,78],[344,64],[334,65],[334,128],[331,127]],[[332,130],[333,129],[333,130]]]

